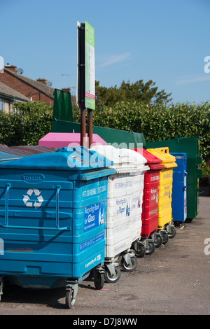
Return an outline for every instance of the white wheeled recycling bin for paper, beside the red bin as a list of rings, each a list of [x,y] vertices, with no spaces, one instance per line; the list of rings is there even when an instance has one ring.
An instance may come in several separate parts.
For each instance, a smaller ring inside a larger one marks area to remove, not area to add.
[[[141,244],[141,213],[144,191],[144,173],[149,169],[143,155],[127,148],[92,146],[94,151],[113,161],[115,174],[109,176],[105,233],[106,281],[120,278],[121,266],[129,272],[137,267],[134,241]]]

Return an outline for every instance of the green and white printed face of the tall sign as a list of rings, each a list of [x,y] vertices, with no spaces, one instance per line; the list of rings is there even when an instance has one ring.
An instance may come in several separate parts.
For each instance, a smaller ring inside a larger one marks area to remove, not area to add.
[[[94,29],[85,21],[85,107],[95,109]]]

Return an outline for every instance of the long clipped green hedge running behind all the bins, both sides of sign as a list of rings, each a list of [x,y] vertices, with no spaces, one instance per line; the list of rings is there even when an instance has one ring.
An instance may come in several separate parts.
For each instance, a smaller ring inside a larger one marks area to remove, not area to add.
[[[14,109],[9,114],[0,111],[0,144],[38,145],[38,140],[50,132],[52,106],[42,102],[16,102]],[[73,106],[73,120],[80,122],[77,106]],[[209,102],[169,106],[148,106],[140,102],[119,102],[109,107],[97,104],[93,125],[142,132],[146,141],[174,139],[176,134],[197,136],[204,162],[210,161]]]

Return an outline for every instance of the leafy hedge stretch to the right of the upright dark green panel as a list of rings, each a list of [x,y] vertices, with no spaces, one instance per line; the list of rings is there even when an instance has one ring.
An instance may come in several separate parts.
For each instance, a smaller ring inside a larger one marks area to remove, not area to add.
[[[73,106],[73,119],[80,122],[80,111]],[[98,104],[93,125],[142,132],[146,141],[179,137],[200,137],[200,151],[210,160],[210,103],[148,106],[141,102],[118,102],[113,106]]]

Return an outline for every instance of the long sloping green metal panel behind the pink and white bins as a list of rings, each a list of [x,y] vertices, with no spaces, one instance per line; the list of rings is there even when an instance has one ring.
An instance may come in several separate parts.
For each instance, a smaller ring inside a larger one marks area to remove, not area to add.
[[[80,132],[80,123],[64,120],[52,120],[51,132]],[[86,125],[87,131],[87,125]],[[113,144],[116,148],[145,148],[144,134],[127,132],[105,127],[92,127],[93,134],[98,134],[106,143]]]

